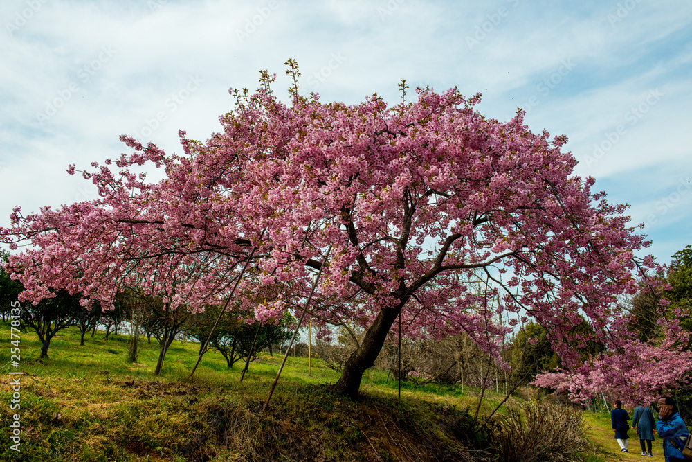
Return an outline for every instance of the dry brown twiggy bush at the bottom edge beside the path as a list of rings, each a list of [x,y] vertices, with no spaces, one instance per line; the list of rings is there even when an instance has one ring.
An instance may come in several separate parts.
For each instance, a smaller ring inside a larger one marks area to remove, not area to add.
[[[534,400],[507,407],[493,445],[500,461],[567,461],[583,450],[581,411]]]

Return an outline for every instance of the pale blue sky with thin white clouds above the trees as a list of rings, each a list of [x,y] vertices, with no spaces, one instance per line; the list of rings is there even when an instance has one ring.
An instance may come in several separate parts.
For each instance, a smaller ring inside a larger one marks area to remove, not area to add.
[[[17,205],[95,199],[66,168],[129,152],[120,134],[170,153],[179,130],[207,139],[262,69],[288,100],[293,58],[322,102],[395,104],[405,78],[481,93],[500,121],[525,109],[567,135],[575,175],[630,204],[647,254],[692,244],[687,0],[3,0],[0,19],[0,226]]]

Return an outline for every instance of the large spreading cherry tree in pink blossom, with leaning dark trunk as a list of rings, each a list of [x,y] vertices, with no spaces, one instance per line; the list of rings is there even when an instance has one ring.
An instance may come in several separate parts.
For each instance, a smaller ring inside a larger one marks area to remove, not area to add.
[[[584,321],[592,340],[622,346],[614,301],[653,261],[634,256],[648,244],[628,226],[626,206],[573,175],[565,136],[531,132],[521,111],[486,118],[480,96],[457,89],[417,89],[407,103],[406,82],[398,104],[376,95],[322,103],[300,94],[298,67],[287,64],[288,103],[263,71],[254,94],[231,91],[235,108],[207,141],[180,132],[183,153],[171,155],[122,136],[134,152],[114,162],[118,174],[112,161],[82,173],[99,199],[26,217],[15,210],[4,240],[34,246],[8,265],[23,296],[60,287],[107,306],[122,278],[165,258],[177,262],[168,274],[185,275],[179,293],[195,310],[223,301],[249,259],[236,296],[268,321],[301,306],[321,269],[309,307],[321,335],[345,322],[365,328],[335,385],[346,396],[357,395],[399,317],[410,337],[466,332],[498,362],[511,324],[529,319],[566,366],[583,362],[569,342],[586,341],[572,329]],[[149,162],[163,180],[134,172]],[[483,290],[469,290],[473,278]],[[152,292],[178,280],[156,278]],[[266,296],[257,304],[244,293]]]

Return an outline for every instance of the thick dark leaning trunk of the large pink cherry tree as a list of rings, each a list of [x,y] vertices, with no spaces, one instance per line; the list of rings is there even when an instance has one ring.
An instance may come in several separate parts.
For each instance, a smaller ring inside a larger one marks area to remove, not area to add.
[[[375,359],[377,359],[377,355],[379,355],[385,344],[385,339],[387,339],[387,333],[392,328],[392,324],[396,321],[405,303],[406,300],[403,300],[399,305],[380,310],[372,326],[365,331],[361,345],[344,363],[341,377],[334,385],[337,393],[349,398],[358,398],[358,389],[361,388],[363,373],[375,364]]]

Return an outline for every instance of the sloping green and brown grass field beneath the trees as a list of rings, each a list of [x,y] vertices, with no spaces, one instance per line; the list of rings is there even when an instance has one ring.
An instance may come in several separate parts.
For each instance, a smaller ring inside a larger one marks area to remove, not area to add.
[[[160,377],[152,371],[158,344],[143,341],[138,363],[126,362],[129,337],[87,336],[76,330],[51,341],[50,359],[38,360],[35,334],[21,336],[21,364],[10,367],[10,328],[0,323],[0,460],[12,461],[471,461],[489,456],[474,449],[482,435],[468,432],[477,390],[403,384],[368,371],[363,398],[334,396],[338,375],[313,359],[290,357],[266,410],[262,409],[281,362],[266,353],[228,369],[207,353],[193,377],[198,344],[175,341]],[[21,371],[24,375],[10,375]],[[20,377],[21,410],[10,411],[10,382]],[[482,414],[495,407],[491,393]],[[10,415],[21,414],[21,452],[10,449]],[[580,460],[621,458],[610,421],[585,414],[592,445]],[[632,447],[638,448],[636,438]],[[477,447],[477,446],[476,446]],[[660,444],[655,452],[661,454]],[[658,456],[653,460],[662,460]]]

